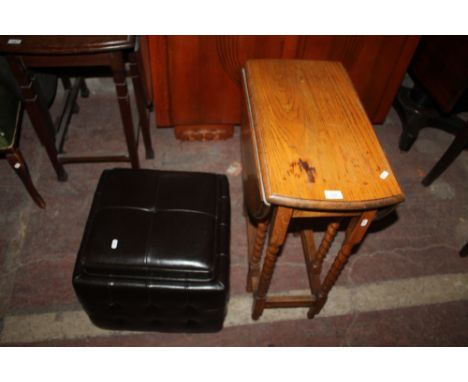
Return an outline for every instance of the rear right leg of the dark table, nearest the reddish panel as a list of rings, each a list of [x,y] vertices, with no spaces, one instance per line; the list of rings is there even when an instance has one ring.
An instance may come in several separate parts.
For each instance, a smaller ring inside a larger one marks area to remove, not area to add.
[[[130,55],[130,75],[132,76],[133,89],[135,92],[136,105],[138,109],[138,117],[141,126],[141,134],[143,136],[143,143],[145,145],[146,158],[154,158],[153,147],[151,145],[150,134],[150,121],[149,110],[146,107],[145,91],[143,85],[143,76],[140,74],[136,57],[134,54]]]

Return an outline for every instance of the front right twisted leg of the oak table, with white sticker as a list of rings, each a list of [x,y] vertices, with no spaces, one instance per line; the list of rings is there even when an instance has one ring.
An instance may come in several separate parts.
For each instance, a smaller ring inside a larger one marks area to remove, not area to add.
[[[345,240],[341,246],[340,251],[336,255],[335,261],[333,262],[330,270],[325,277],[321,287],[318,300],[316,304],[309,309],[307,313],[308,318],[314,318],[314,316],[322,310],[325,304],[328,293],[330,292],[333,285],[335,285],[338,276],[340,275],[343,267],[348,261],[351,250],[356,244],[359,244],[364,237],[367,229],[369,228],[376,211],[365,211],[360,216],[351,219],[348,228],[346,229]]]

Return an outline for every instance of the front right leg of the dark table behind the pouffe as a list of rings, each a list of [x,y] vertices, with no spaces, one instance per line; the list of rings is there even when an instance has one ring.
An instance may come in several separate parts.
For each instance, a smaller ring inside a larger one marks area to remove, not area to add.
[[[127,77],[125,66],[120,52],[110,54],[111,69],[114,76],[115,90],[119,101],[120,116],[122,118],[125,140],[127,142],[128,155],[132,168],[140,168],[138,160],[138,150],[133,128],[132,109],[130,106],[130,97],[128,94]]]

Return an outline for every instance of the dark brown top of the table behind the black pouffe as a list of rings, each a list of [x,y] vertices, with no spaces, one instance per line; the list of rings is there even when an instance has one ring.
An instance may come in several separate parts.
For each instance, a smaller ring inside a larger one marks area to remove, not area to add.
[[[0,52],[79,54],[132,49],[135,36],[0,36]]]

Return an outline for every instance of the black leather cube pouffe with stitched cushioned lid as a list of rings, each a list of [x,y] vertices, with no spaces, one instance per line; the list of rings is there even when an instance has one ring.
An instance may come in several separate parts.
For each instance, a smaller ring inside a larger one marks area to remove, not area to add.
[[[229,291],[229,234],[224,175],[106,170],[73,287],[102,328],[219,331]]]

